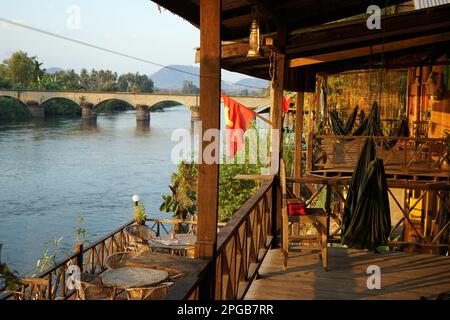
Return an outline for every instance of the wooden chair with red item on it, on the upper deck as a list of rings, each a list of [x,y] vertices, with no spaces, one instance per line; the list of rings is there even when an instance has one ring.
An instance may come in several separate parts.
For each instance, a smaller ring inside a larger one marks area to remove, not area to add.
[[[288,213],[288,196],[287,196],[287,185],[286,185],[286,164],[284,159],[280,161],[280,180],[281,180],[281,191],[282,191],[282,252],[283,252],[283,269],[286,270],[289,257],[289,243],[291,241],[302,242],[304,240],[311,240],[310,237],[302,237],[298,235],[289,235],[289,223],[310,223],[312,224],[318,233],[315,240],[318,242],[316,248],[320,249],[319,257],[322,259],[322,267],[326,271],[328,267],[328,217],[325,210],[320,208],[307,208],[307,215],[297,215],[291,216]]]

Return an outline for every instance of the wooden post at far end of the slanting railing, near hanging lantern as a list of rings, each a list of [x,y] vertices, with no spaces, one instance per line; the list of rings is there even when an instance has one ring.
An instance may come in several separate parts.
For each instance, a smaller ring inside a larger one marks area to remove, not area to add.
[[[277,43],[279,50],[283,53],[286,46],[286,24],[282,23],[278,26],[277,30]],[[272,121],[272,158],[271,158],[271,174],[276,175],[276,179],[279,181],[280,173],[280,158],[282,152],[283,142],[283,90],[284,90],[284,74],[286,68],[286,59],[283,54],[275,55],[275,75],[271,83],[271,121]],[[278,144],[278,148],[274,148],[274,145]],[[275,237],[274,246],[278,245],[277,233],[281,226],[281,188],[280,183],[275,183],[276,190],[273,198],[276,219],[272,221],[273,235]]]

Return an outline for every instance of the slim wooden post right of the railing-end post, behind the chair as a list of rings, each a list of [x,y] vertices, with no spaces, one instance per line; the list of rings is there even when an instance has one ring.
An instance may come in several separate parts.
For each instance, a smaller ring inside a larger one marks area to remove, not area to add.
[[[297,92],[297,102],[295,111],[295,153],[294,153],[294,178],[302,176],[302,137],[303,137],[303,105],[304,92]],[[294,194],[300,197],[301,184],[294,183]]]

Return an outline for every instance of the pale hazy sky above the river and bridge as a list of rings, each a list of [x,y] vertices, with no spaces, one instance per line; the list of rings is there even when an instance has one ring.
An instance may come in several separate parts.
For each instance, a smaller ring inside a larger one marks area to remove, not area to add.
[[[0,18],[163,65],[194,65],[199,30],[149,0],[0,0]],[[45,68],[110,69],[151,74],[159,69],[0,21],[0,60],[23,50]],[[223,72],[222,79],[246,76]]]

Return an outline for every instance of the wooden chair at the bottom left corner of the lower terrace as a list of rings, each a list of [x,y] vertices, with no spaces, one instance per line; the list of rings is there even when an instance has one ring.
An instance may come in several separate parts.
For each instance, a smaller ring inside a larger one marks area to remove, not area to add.
[[[23,278],[19,291],[13,292],[15,300],[51,300],[51,276],[46,278]]]

